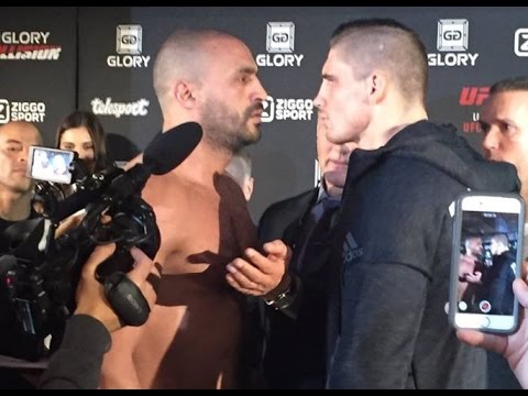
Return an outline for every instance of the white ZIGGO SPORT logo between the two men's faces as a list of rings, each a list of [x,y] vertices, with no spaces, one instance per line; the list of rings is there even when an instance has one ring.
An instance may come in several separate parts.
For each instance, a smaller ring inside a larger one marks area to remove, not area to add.
[[[314,100],[311,99],[274,99],[268,96],[262,105],[264,107],[262,122],[272,122],[273,120],[310,121],[314,114]]]

